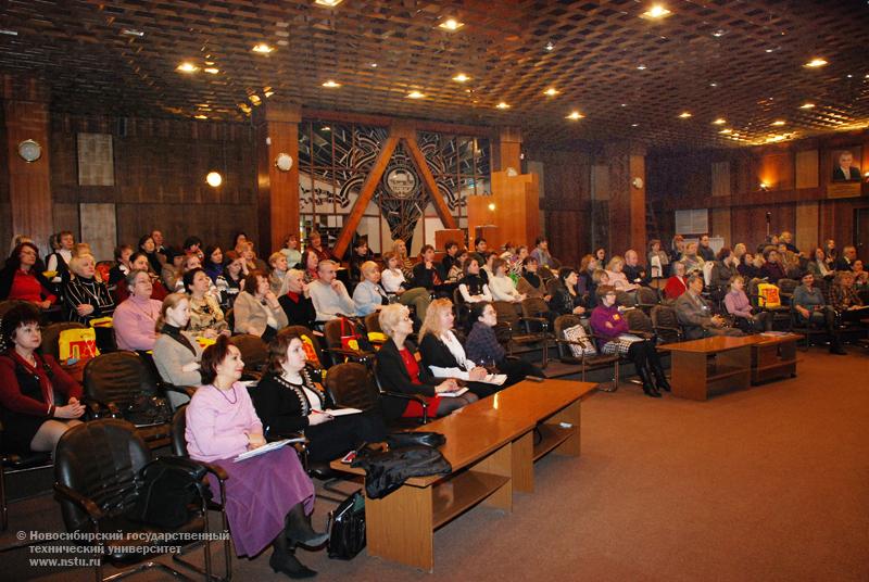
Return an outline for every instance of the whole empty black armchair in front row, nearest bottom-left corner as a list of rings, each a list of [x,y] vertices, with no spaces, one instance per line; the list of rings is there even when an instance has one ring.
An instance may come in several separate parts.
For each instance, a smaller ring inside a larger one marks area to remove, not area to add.
[[[160,553],[160,546],[168,545],[167,534],[204,535],[209,532],[206,496],[202,489],[180,527],[165,529],[139,521],[134,515],[143,485],[139,471],[151,460],[151,452],[136,428],[124,420],[101,419],[70,429],[58,443],[55,456],[54,492],[66,531],[122,534],[117,540],[108,535],[101,542],[103,552],[95,554],[98,581],[152,568],[189,580],[178,570],[151,561],[151,558]],[[201,465],[190,459],[177,461],[190,467]],[[97,545],[91,541],[83,541],[83,544]],[[118,567],[136,566],[105,579],[103,561]],[[205,545],[206,580],[212,579],[211,569],[211,551]]]

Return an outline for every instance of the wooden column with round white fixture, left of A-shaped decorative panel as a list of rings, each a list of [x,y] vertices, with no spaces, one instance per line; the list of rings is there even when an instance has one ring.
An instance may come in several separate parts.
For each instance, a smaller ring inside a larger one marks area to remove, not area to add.
[[[281,248],[287,235],[299,233],[299,123],[301,107],[267,103],[255,110],[260,244],[257,255]],[[292,167],[275,165],[278,154],[292,156]]]

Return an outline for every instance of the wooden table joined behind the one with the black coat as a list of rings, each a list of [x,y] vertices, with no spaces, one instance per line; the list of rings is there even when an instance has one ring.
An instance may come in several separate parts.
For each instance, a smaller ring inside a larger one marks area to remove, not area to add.
[[[513,490],[534,491],[534,461],[554,452],[579,456],[581,444],[580,405],[596,388],[594,382],[569,380],[525,380],[488,398],[465,406],[461,415],[483,415],[522,421],[528,431],[513,443]]]

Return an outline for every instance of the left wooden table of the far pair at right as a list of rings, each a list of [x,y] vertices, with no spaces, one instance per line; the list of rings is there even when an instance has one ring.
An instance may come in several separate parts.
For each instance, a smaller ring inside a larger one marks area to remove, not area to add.
[[[755,338],[716,336],[662,345],[672,355],[672,395],[705,401],[709,394],[748,388]]]

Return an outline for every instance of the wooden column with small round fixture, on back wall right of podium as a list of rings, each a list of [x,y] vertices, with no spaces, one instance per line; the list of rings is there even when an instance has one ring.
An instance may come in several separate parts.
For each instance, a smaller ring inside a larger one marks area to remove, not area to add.
[[[609,255],[628,249],[645,256],[645,149],[616,143],[605,150],[609,166]],[[642,180],[638,188],[632,182]]]

